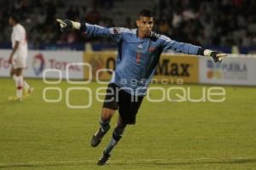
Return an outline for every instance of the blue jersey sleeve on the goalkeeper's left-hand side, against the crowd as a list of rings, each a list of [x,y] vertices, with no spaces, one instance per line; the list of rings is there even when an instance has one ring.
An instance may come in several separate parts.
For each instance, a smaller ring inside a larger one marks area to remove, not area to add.
[[[114,42],[120,42],[122,39],[122,30],[120,27],[106,28],[103,26],[90,25],[88,23],[82,26],[82,31],[93,37],[108,37]]]

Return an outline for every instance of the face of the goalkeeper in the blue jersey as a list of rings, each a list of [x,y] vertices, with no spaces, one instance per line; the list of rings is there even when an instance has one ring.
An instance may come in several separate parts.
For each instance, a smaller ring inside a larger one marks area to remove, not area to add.
[[[138,27],[139,34],[141,34],[141,36],[143,37],[150,36],[153,26],[154,26],[153,17],[141,16],[137,20],[137,27]]]

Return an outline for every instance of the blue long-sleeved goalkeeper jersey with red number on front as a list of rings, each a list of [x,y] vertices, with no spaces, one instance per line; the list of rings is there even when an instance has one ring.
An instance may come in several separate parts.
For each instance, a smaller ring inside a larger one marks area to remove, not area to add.
[[[118,44],[116,68],[110,82],[132,95],[146,95],[162,52],[173,50],[184,54],[198,54],[200,48],[173,41],[153,31],[150,37],[141,39],[137,37],[137,29],[106,28],[87,23],[82,27],[82,31],[89,36],[108,37]]]

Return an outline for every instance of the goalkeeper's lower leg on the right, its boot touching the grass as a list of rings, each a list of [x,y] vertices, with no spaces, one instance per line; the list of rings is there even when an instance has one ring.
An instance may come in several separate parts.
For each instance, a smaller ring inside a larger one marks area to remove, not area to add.
[[[121,116],[119,116],[117,126],[113,130],[113,136],[110,140],[108,146],[103,151],[102,157],[97,162],[98,165],[105,165],[108,163],[110,157],[110,152],[113,150],[114,146],[118,144],[119,140],[122,138],[123,133],[125,132],[126,123],[123,122]]]

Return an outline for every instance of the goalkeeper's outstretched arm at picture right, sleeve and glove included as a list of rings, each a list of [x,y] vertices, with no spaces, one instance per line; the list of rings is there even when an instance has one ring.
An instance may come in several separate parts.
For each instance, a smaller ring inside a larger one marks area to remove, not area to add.
[[[207,57],[212,57],[214,62],[221,62],[227,54],[218,54],[215,51],[204,49],[199,46],[192,45],[190,43],[176,42],[166,36],[160,36],[163,41],[163,50],[174,50],[184,54],[195,54]]]

